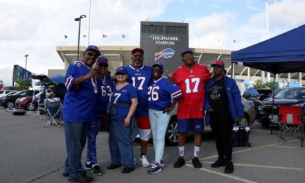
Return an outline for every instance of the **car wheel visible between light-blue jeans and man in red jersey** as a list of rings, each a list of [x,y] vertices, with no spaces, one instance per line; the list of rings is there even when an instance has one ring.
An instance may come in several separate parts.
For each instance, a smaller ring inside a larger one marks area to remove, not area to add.
[[[166,134],[165,134],[165,142],[168,146],[177,146],[178,144],[178,123],[177,116],[172,116],[171,121],[169,121]]]

